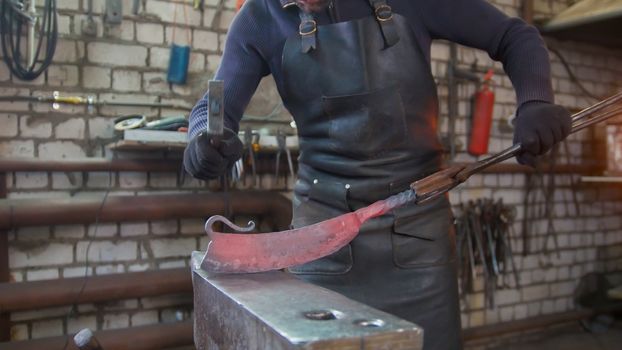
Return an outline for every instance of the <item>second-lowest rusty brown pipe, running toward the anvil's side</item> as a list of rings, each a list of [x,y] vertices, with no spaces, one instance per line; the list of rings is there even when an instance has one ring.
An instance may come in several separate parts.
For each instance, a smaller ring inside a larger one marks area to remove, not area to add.
[[[185,267],[48,281],[0,283],[0,310],[34,310],[191,291],[190,272]]]

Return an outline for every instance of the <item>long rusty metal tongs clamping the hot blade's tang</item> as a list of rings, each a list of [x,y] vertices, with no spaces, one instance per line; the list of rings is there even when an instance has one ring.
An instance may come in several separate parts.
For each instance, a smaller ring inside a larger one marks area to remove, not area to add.
[[[599,123],[616,115],[622,114],[622,92],[617,93],[595,105],[592,105],[572,116],[572,130],[575,133],[590,125]],[[466,181],[471,175],[478,173],[493,164],[515,157],[522,151],[517,143],[495,155],[469,165],[453,165],[428,177],[413,182],[410,187],[417,194],[417,203],[427,202],[448,192]]]

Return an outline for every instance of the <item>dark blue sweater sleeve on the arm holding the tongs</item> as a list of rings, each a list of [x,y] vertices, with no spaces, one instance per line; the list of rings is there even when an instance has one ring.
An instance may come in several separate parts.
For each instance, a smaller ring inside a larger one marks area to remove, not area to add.
[[[517,106],[553,102],[549,55],[538,30],[485,0],[422,0],[420,19],[432,38],[485,50],[503,64]]]

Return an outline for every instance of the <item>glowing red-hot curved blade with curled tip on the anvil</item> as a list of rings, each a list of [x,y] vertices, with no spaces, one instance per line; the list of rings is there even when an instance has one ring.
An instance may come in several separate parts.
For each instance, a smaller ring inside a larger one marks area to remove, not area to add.
[[[212,216],[205,224],[205,230],[212,240],[201,267],[210,272],[248,273],[304,264],[334,253],[348,244],[365,221],[415,199],[415,192],[407,190],[314,225],[263,234],[214,232],[212,225],[216,222],[223,222],[242,232],[251,231],[254,224],[241,228],[222,216]]]

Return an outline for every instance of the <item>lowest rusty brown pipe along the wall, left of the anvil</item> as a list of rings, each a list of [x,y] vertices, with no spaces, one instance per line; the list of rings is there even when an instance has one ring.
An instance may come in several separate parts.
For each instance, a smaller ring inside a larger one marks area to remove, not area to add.
[[[191,321],[95,332],[95,336],[104,350],[156,350],[181,347],[193,344],[192,335]],[[0,343],[0,349],[79,350],[71,340],[70,335]]]

